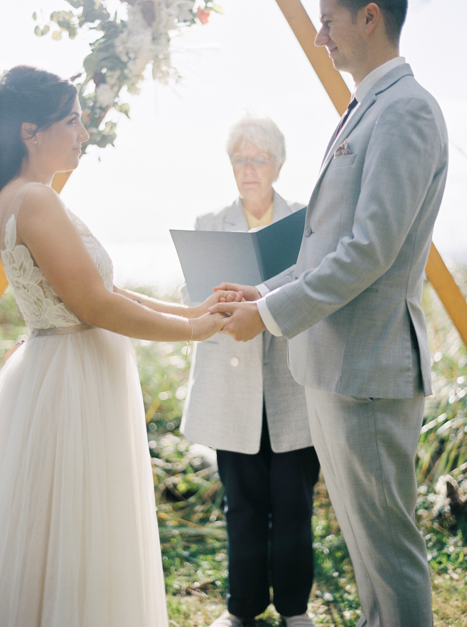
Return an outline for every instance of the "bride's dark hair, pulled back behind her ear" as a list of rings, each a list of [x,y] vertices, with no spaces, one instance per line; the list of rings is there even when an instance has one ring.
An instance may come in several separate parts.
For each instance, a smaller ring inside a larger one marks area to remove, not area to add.
[[[18,176],[28,156],[21,139],[23,122],[47,129],[71,113],[77,93],[66,78],[29,65],[18,65],[1,76],[0,190]]]

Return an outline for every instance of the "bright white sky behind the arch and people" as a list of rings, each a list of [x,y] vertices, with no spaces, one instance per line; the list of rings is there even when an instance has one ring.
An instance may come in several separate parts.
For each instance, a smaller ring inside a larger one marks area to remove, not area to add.
[[[287,161],[276,184],[307,203],[338,115],[274,0],[220,0],[212,15],[173,42],[181,84],[146,80],[118,117],[115,149],[91,147],[62,192],[113,256],[116,281],[160,287],[182,280],[170,228],[192,228],[198,214],[237,196],[225,154],[228,127],[244,110],[266,113],[284,132]],[[401,54],[443,109],[451,162],[434,243],[446,260],[467,261],[467,82],[465,0],[409,0]],[[120,5],[109,0],[109,8]],[[318,0],[305,0],[317,26]],[[88,43],[34,35],[64,0],[1,3],[0,64],[43,66],[63,76],[81,68]],[[43,18],[41,18],[41,14]],[[349,75],[344,75],[352,87]],[[100,157],[100,161],[98,161]]]

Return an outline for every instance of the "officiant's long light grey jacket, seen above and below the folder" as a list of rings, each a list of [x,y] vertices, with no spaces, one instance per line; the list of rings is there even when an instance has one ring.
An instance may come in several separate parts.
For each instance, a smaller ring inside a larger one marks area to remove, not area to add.
[[[274,193],[273,221],[303,205]],[[247,231],[241,200],[197,219],[206,231]],[[184,301],[187,302],[185,294]],[[197,342],[180,429],[188,440],[221,450],[257,453],[263,397],[272,450],[311,446],[305,391],[287,367],[287,340],[264,332],[250,342],[213,335]]]

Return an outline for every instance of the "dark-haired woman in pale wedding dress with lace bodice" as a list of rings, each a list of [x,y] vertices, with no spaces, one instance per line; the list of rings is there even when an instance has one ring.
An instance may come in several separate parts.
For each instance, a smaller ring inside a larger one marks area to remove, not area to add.
[[[89,139],[76,88],[0,81],[0,250],[31,329],[0,372],[0,624],[166,627],[145,429],[128,337],[203,340],[225,318],[113,287],[112,264],[51,189]],[[126,336],[126,337],[125,337]]]

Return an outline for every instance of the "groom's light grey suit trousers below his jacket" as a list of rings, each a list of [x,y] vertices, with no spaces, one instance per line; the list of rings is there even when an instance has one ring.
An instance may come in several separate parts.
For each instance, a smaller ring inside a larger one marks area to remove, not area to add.
[[[357,627],[433,624],[426,544],[414,523],[424,409],[414,371],[413,399],[305,388],[313,444],[354,566],[362,607]]]

